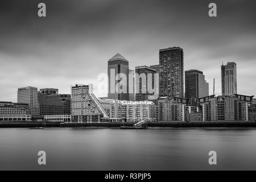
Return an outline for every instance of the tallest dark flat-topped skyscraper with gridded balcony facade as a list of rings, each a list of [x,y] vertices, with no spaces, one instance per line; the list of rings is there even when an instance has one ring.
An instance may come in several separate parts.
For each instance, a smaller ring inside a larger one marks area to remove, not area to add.
[[[159,97],[184,97],[183,49],[159,50]]]

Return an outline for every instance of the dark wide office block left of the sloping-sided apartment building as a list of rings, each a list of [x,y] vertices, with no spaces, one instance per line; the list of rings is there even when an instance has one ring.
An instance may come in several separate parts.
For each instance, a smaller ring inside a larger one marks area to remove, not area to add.
[[[47,121],[68,122],[71,115],[71,95],[58,93],[58,89],[40,89],[39,114]]]

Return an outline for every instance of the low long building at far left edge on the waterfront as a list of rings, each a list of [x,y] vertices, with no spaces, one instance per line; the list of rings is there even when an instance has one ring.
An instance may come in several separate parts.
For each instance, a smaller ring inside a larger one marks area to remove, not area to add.
[[[0,122],[31,121],[28,104],[0,101]]]

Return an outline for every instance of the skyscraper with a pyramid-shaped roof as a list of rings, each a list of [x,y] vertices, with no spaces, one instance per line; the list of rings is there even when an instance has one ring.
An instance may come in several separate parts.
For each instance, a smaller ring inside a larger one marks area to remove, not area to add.
[[[129,100],[129,62],[117,53],[108,61],[108,98]]]

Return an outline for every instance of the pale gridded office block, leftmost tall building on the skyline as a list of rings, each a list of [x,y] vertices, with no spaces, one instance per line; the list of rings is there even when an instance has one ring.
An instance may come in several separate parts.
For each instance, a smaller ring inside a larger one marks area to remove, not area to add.
[[[18,88],[17,92],[17,102],[28,104],[31,110],[33,118],[39,116],[39,106],[38,106],[38,88],[27,86],[23,88]]]

